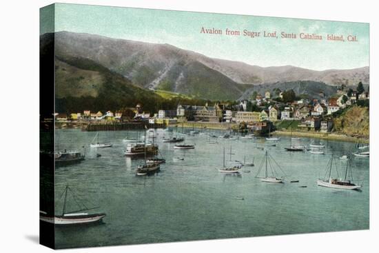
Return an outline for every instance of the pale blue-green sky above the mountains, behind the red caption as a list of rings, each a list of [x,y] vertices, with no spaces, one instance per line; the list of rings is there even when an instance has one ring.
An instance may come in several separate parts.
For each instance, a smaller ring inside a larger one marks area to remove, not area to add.
[[[41,17],[45,16],[41,12]],[[217,28],[223,35],[201,34]],[[225,29],[276,31],[278,39],[230,37]],[[41,34],[52,32],[41,23]],[[295,65],[313,70],[349,69],[369,65],[369,24],[308,19],[283,19],[234,14],[178,12],[57,3],[54,31],[87,32],[118,39],[169,43],[208,57],[251,65]],[[321,34],[325,39],[280,39],[280,32]],[[358,42],[327,41],[327,34],[354,34]]]

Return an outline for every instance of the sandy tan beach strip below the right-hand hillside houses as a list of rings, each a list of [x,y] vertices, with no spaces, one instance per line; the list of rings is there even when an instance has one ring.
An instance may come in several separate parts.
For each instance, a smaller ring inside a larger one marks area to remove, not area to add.
[[[291,132],[276,130],[275,132],[272,132],[272,134],[290,136]],[[292,132],[292,135],[324,139],[324,140],[333,140],[333,141],[349,141],[349,142],[360,141],[361,143],[369,143],[369,138],[361,139],[354,136],[347,136],[346,134],[320,133],[320,132]]]

